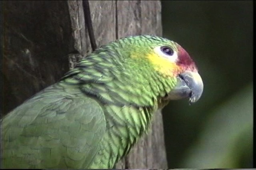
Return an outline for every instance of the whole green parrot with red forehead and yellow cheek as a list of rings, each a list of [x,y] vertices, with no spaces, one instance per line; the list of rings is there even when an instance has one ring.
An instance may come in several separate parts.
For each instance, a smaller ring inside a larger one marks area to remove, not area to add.
[[[202,78],[176,42],[104,45],[1,119],[1,168],[113,168],[169,100],[196,102]]]

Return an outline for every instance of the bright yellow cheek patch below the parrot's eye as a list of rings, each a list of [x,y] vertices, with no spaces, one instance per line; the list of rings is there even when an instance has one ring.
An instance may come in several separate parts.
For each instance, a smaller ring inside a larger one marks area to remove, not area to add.
[[[154,69],[164,76],[173,77],[180,72],[181,68],[174,62],[157,55],[156,53],[150,53],[147,55],[148,60],[152,63]]]

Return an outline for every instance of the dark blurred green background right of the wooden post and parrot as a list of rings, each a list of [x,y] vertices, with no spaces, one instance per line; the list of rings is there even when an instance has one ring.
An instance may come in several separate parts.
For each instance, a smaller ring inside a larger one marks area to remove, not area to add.
[[[162,24],[204,81],[163,109],[168,168],[252,168],[252,1],[162,1]]]

